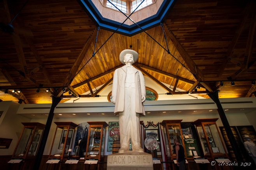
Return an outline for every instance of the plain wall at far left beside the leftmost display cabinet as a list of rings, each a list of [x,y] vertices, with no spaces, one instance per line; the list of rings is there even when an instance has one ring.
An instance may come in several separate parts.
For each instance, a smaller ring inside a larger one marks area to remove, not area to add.
[[[0,149],[0,155],[13,154],[23,129],[23,124],[21,124],[21,122],[31,121],[30,118],[16,114],[19,105],[20,104],[13,101],[0,102],[0,111],[4,111],[0,118],[0,138],[12,139],[11,145],[8,149]]]

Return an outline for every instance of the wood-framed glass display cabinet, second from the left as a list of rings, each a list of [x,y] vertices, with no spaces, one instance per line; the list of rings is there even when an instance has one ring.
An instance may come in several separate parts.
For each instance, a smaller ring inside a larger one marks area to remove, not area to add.
[[[53,138],[53,144],[49,155],[50,158],[67,159],[68,149],[72,148],[74,131],[77,124],[73,122],[54,122],[57,127]]]

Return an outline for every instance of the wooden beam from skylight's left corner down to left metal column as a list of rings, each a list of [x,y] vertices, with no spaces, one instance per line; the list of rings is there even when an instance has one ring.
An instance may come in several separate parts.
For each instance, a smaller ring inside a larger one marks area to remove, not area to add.
[[[85,57],[86,52],[89,49],[89,46],[91,45],[91,42],[95,39],[96,35],[97,35],[97,27],[95,27],[95,29],[93,30],[93,33],[87,39],[87,41],[86,41],[85,45],[83,46],[80,54],[76,58],[75,63],[73,64],[72,68],[68,72],[68,76],[65,79],[65,81],[63,82],[64,86],[69,86],[71,84],[71,82],[72,82],[73,78],[75,77],[75,74],[76,74],[82,60]]]

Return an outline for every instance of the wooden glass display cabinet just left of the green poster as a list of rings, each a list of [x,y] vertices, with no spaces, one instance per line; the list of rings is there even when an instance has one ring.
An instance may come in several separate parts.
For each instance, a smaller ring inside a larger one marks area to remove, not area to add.
[[[100,160],[104,156],[105,129],[108,126],[106,122],[87,122],[89,127],[87,148],[85,158],[94,158]]]

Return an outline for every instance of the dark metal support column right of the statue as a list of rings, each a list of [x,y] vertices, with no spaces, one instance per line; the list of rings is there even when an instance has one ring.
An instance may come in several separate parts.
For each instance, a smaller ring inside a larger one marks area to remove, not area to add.
[[[244,162],[243,157],[240,153],[240,149],[238,147],[237,142],[235,141],[235,137],[232,133],[232,130],[230,128],[230,125],[228,123],[228,119],[226,118],[226,115],[224,113],[224,110],[221,106],[221,102],[219,101],[219,91],[214,91],[213,93],[208,93],[208,96],[216,103],[217,105],[217,110],[219,112],[219,117],[221,117],[221,121],[223,123],[223,126],[225,128],[225,131],[227,133],[228,139],[230,141],[230,144],[232,146],[232,149],[234,151],[235,154],[235,158],[237,159],[238,163],[242,163]]]

